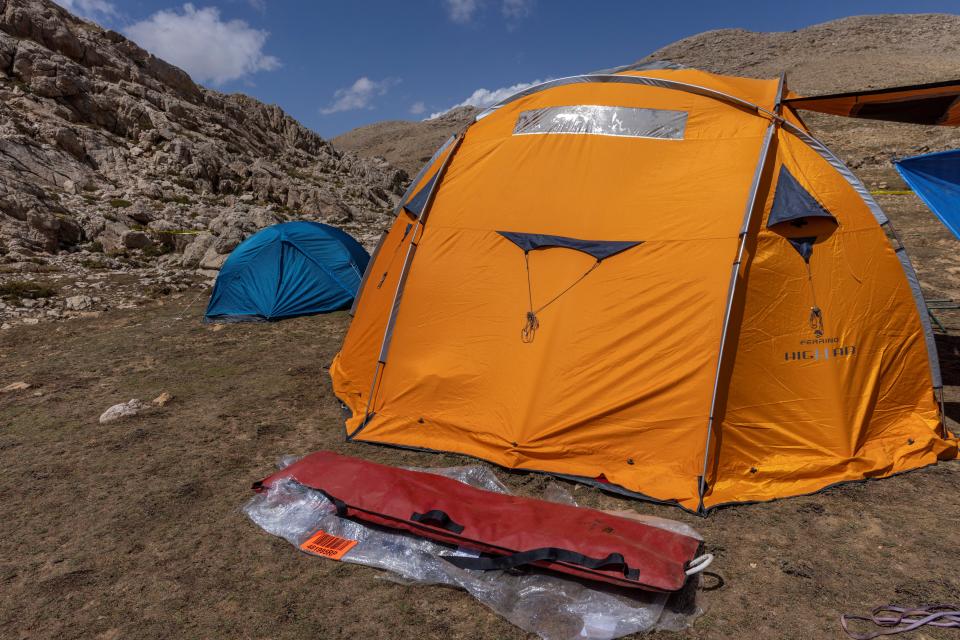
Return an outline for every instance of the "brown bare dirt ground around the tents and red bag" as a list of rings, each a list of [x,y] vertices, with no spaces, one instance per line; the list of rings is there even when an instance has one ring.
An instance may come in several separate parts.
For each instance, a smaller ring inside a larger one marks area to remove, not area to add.
[[[960,297],[960,244],[913,196],[882,204],[930,296]],[[284,454],[465,460],[344,442],[326,366],[346,314],[210,327],[201,302],[184,308],[193,298],[0,333],[0,388],[31,385],[0,394],[0,637],[526,637],[463,592],[307,556],[247,520],[250,483]],[[960,315],[942,318],[956,428]],[[97,422],[110,405],[164,391],[174,399],[162,408]],[[547,482],[496,471],[527,495]],[[569,486],[581,504],[702,532],[719,578],[685,637],[837,638],[841,612],[960,592],[958,463],[707,519]]]

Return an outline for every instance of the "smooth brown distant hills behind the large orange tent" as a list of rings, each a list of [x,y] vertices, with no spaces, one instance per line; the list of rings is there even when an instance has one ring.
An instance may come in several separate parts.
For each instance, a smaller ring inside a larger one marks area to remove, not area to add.
[[[773,33],[721,29],[679,40],[638,62],[652,60],[755,78],[785,72],[790,89],[803,95],[937,82],[960,77],[960,16],[855,16]],[[567,70],[570,74],[584,71]],[[430,157],[448,132],[465,126],[476,113],[460,109],[436,120],[375,123],[334,142],[361,155],[383,156],[411,172],[419,168],[417,162]],[[804,114],[804,119],[874,184],[896,181],[890,166],[894,155],[960,145],[960,135],[952,129],[819,114]]]

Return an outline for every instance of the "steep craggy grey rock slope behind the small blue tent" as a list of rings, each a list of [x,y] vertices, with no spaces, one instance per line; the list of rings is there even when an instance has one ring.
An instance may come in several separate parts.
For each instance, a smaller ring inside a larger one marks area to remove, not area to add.
[[[406,181],[52,2],[0,0],[0,320],[46,304],[18,274],[177,279],[289,218],[370,244]]]

